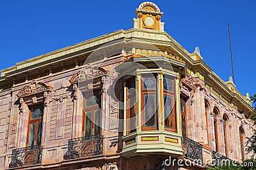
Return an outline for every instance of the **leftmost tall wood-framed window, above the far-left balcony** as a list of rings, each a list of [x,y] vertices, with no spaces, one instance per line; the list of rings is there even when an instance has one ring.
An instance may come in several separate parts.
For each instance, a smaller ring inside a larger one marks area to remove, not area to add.
[[[44,106],[32,106],[29,110],[27,146],[41,145]]]

